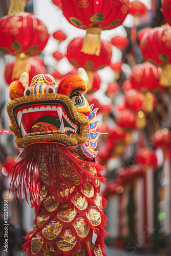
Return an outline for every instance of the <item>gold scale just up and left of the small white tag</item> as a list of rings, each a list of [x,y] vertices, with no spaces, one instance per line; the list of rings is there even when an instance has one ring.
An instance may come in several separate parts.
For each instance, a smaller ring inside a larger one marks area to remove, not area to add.
[[[86,220],[84,220],[83,216],[78,216],[74,220],[73,226],[75,227],[75,230],[79,237],[81,238],[87,237],[90,231],[90,227],[88,226],[88,223],[86,222]]]

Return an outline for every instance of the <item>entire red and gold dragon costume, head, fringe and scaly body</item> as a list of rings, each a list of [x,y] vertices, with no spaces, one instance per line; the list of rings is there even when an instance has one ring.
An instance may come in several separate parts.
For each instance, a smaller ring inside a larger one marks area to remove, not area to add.
[[[12,168],[15,196],[35,210],[25,255],[104,256],[106,201],[102,167],[95,163],[97,109],[89,105],[88,76],[63,78],[28,73],[10,85],[7,112],[22,160]]]

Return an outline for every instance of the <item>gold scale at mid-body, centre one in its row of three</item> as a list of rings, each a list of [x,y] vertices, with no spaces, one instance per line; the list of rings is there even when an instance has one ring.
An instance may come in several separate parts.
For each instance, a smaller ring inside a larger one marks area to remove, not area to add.
[[[63,222],[71,222],[76,214],[77,212],[75,209],[70,208],[69,204],[64,204],[62,205],[61,210],[57,212],[57,217]]]

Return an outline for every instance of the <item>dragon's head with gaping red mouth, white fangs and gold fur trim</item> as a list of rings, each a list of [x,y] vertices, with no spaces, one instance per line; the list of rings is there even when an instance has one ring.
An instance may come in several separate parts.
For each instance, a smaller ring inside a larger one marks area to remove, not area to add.
[[[29,74],[10,84],[7,105],[10,130],[18,147],[31,143],[56,142],[94,158],[99,132],[95,121],[97,109],[84,94],[89,79],[86,71],[67,76],[56,85],[51,75],[36,75],[29,84]]]

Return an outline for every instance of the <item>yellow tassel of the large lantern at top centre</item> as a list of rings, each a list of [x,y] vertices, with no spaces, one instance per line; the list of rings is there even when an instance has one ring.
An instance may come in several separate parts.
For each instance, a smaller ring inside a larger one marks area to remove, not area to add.
[[[101,41],[100,41],[100,29],[88,29],[86,37],[84,38],[81,52],[87,53],[90,55],[100,54]]]

